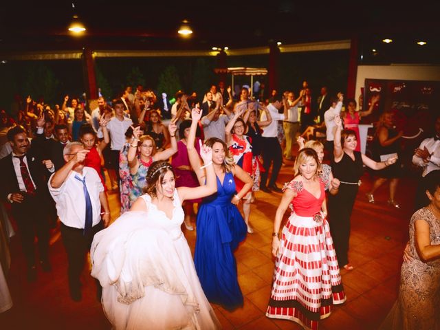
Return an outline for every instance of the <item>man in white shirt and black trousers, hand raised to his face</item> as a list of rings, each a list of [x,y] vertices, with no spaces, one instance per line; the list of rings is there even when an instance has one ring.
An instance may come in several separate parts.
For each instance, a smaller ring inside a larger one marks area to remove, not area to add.
[[[287,117],[287,107],[284,106],[281,97],[275,96],[272,102],[267,106],[267,110],[270,111],[272,116],[272,122],[263,128],[263,167],[265,171],[261,175],[260,190],[264,192],[281,192],[281,188],[276,186],[276,179],[281,169],[281,163],[283,162],[283,153],[281,151],[280,143],[278,142],[278,121],[285,120]],[[279,113],[278,110],[284,109],[283,113]],[[261,121],[267,120],[266,113],[261,113]],[[267,177],[269,175],[269,168],[273,162],[272,174],[270,175],[269,184],[267,184]]]

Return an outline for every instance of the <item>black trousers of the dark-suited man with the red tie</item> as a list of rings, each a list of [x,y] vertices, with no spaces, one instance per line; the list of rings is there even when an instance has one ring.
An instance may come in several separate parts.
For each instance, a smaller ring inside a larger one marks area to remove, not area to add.
[[[21,245],[28,267],[35,265],[35,236],[38,238],[41,261],[49,261],[49,219],[47,202],[39,192],[24,195],[21,203],[12,203],[12,215],[21,235]]]

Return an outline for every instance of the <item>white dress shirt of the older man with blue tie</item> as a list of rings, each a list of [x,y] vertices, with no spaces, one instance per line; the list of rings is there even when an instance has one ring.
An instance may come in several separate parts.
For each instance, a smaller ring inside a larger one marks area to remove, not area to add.
[[[55,173],[54,173],[55,174]],[[49,187],[50,195],[56,203],[56,213],[61,222],[68,227],[83,229],[85,225],[85,195],[84,185],[82,181],[75,179],[78,175],[80,179],[85,177],[85,185],[87,192],[89,192],[91,206],[93,210],[92,225],[97,225],[101,221],[101,203],[99,200],[100,192],[104,191],[102,181],[94,168],[85,166],[83,174],[72,170],[67,179],[63,182],[60,188],[53,188],[50,181],[54,176],[50,176],[47,186]]]

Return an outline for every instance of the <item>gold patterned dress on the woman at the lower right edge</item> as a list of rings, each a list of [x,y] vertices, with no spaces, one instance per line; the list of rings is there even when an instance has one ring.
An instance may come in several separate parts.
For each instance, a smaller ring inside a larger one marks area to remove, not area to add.
[[[399,296],[380,329],[440,329],[440,259],[420,260],[414,226],[419,219],[429,225],[431,245],[440,244],[440,220],[421,208],[410,220],[410,260],[401,265]]]

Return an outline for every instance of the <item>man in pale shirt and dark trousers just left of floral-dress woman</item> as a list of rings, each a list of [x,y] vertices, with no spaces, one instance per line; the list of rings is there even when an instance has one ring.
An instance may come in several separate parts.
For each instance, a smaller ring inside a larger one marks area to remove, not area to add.
[[[115,109],[115,117],[111,118],[107,124],[111,140],[111,153],[110,159],[106,160],[109,165],[107,170],[109,170],[111,188],[112,190],[116,190],[118,189],[119,182],[119,152],[125,144],[125,132],[133,125],[133,121],[124,116],[125,106],[121,99],[113,102],[113,108]],[[98,137],[103,137],[102,129],[99,129]]]

